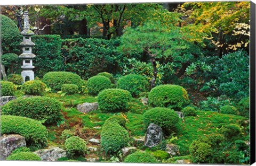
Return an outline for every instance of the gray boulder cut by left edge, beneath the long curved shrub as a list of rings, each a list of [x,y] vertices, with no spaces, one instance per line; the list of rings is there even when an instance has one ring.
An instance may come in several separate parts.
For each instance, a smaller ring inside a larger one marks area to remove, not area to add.
[[[18,134],[3,135],[0,137],[0,160],[5,160],[13,150],[26,146],[25,137]]]

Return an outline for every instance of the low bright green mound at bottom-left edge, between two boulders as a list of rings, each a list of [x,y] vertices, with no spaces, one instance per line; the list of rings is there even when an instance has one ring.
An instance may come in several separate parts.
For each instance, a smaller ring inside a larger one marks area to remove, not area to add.
[[[9,155],[6,160],[12,161],[41,161],[38,155],[33,152],[18,152]]]

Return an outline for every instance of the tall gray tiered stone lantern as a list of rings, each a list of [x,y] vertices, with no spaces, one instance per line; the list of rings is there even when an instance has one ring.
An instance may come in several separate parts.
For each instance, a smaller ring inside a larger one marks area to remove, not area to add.
[[[20,46],[22,47],[22,54],[19,56],[19,58],[22,59],[22,72],[21,76],[23,77],[23,80],[34,80],[34,72],[33,68],[33,58],[36,57],[35,54],[32,53],[32,46],[35,46],[35,43],[31,41],[31,36],[34,34],[33,31],[29,29],[29,19],[28,19],[28,11],[24,12],[24,30],[20,32],[20,34],[23,36],[23,41],[20,43]]]

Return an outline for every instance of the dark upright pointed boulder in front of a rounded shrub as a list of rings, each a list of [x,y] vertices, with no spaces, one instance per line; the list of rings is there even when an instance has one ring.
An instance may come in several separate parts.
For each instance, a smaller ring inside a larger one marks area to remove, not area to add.
[[[148,147],[153,147],[161,143],[162,139],[163,139],[162,128],[153,123],[149,124],[144,145]]]

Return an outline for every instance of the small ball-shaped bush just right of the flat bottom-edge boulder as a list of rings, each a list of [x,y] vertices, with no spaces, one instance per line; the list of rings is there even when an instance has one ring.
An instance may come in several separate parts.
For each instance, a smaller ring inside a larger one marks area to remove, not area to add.
[[[72,136],[66,139],[65,148],[67,155],[70,158],[76,158],[78,156],[83,156],[87,153],[86,142],[84,139],[77,136]]]

